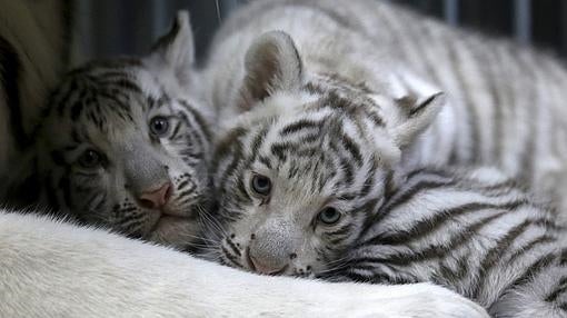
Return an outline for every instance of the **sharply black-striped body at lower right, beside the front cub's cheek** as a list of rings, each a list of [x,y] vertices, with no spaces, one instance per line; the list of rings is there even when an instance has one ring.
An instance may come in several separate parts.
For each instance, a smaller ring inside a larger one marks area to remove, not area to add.
[[[565,228],[513,179],[490,168],[420,169],[401,185],[324,276],[431,281],[493,317],[567,316]]]

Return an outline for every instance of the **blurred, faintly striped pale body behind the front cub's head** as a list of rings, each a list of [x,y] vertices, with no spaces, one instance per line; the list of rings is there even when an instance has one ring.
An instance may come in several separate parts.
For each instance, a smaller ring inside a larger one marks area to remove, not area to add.
[[[297,47],[304,83],[315,76],[335,77],[338,86],[376,93],[382,80],[397,96],[399,81],[390,78],[401,77],[427,80],[447,93],[432,125],[402,152],[407,166],[496,165],[561,210],[567,198],[565,67],[547,54],[385,2],[251,1],[225,22],[211,49],[213,105],[225,119],[241,112],[242,105],[255,107],[240,89],[246,50],[261,33],[282,30]],[[278,69],[265,63],[262,76],[277,77]],[[281,90],[291,91],[270,86],[268,92]]]

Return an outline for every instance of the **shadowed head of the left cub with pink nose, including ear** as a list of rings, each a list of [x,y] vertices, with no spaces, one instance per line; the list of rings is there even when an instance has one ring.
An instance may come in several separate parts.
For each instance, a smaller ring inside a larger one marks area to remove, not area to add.
[[[180,12],[148,57],[66,77],[38,132],[39,175],[54,209],[131,237],[190,241],[207,201],[212,122],[193,61]]]

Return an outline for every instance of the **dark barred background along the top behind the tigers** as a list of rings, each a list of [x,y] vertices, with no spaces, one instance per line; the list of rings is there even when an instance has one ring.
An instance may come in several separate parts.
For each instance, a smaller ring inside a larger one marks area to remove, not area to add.
[[[306,0],[308,1],[308,0]],[[380,1],[380,0],[377,0]],[[386,1],[386,0],[382,0]],[[117,54],[143,54],[168,30],[179,9],[191,14],[202,57],[219,22],[246,0],[77,0],[74,63]],[[524,44],[567,57],[567,1],[561,0],[389,0]],[[348,6],[348,0],[345,0]]]

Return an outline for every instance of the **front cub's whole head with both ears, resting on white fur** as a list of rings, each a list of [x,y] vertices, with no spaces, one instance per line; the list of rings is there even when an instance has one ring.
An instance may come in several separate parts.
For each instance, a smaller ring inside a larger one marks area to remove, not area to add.
[[[395,181],[401,151],[444,105],[401,74],[378,91],[339,74],[309,73],[292,39],[265,33],[250,47],[213,159],[216,238],[227,265],[310,276],[360,233]]]

